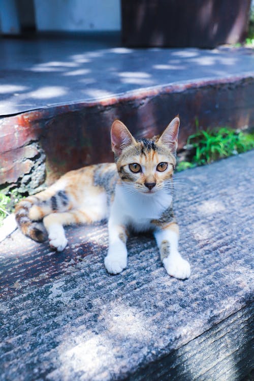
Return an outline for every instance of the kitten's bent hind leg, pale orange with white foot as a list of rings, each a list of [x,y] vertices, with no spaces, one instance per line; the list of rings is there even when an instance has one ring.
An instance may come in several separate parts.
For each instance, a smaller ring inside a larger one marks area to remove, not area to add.
[[[48,232],[49,244],[57,251],[63,250],[68,241],[63,226],[73,224],[91,223],[89,213],[83,210],[71,210],[63,213],[51,213],[43,218],[44,226]]]

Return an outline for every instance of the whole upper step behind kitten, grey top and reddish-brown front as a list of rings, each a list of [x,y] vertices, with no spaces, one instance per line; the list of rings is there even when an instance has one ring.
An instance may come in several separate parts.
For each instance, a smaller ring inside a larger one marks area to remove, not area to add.
[[[103,39],[0,41],[0,186],[33,193],[45,169],[51,183],[112,161],[115,118],[151,137],[179,114],[180,148],[197,125],[254,126],[253,50],[126,49]]]

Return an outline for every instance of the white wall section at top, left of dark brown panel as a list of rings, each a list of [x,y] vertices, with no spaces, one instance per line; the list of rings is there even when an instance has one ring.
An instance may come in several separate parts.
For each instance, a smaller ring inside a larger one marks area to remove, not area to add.
[[[120,0],[34,0],[41,31],[120,30]]]

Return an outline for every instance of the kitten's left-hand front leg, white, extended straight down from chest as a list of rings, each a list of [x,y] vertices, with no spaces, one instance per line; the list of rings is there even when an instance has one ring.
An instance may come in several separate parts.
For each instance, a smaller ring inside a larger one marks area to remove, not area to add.
[[[110,274],[118,274],[127,266],[126,240],[128,232],[125,226],[116,224],[109,219],[109,248],[104,260],[105,267]]]

